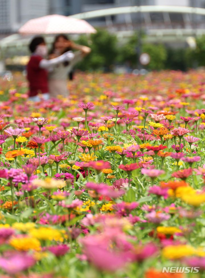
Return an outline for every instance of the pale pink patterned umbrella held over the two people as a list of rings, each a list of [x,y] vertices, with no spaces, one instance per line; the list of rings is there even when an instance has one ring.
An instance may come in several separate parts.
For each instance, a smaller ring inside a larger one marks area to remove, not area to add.
[[[60,14],[31,19],[19,29],[20,34],[88,34],[96,32],[87,21]]]

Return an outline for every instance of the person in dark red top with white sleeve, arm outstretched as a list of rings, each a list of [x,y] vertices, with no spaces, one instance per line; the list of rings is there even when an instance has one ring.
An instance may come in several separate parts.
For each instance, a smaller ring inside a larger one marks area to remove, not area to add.
[[[32,53],[27,65],[27,79],[29,82],[28,96],[30,100],[40,101],[50,98],[48,89],[48,70],[50,67],[74,58],[72,51],[67,51],[54,59],[47,60],[48,49],[43,37],[35,37],[29,45]],[[42,94],[41,98],[38,94]]]

